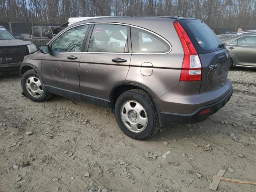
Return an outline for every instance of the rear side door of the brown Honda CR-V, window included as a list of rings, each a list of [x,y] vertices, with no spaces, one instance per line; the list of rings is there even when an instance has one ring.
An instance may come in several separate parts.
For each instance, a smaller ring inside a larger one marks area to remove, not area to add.
[[[110,90],[125,82],[131,59],[129,26],[94,24],[80,59],[80,90],[86,102],[108,107]],[[90,39],[90,41],[89,41]]]

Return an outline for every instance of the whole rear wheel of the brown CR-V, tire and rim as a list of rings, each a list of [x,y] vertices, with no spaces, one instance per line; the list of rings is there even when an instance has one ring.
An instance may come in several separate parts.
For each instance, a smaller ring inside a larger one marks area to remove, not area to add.
[[[154,136],[160,127],[154,102],[140,89],[126,91],[118,97],[115,116],[122,131],[137,140]]]

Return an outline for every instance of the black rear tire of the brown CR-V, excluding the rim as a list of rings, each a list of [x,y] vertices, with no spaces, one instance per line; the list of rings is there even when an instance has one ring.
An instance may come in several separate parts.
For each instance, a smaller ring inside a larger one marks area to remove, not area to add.
[[[132,132],[125,126],[124,122],[122,121],[121,108],[123,104],[130,100],[138,102],[146,110],[148,120],[142,132]],[[118,97],[115,104],[115,116],[116,121],[122,131],[130,138],[136,140],[148,139],[154,136],[154,134],[156,134],[160,128],[156,107],[152,98],[150,98],[146,92],[140,89],[128,90]]]

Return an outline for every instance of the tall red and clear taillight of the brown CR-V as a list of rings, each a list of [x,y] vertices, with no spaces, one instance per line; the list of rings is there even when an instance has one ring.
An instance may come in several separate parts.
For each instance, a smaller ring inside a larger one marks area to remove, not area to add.
[[[184,50],[180,81],[200,81],[202,79],[202,64],[196,49],[178,21],[174,22],[174,27]]]

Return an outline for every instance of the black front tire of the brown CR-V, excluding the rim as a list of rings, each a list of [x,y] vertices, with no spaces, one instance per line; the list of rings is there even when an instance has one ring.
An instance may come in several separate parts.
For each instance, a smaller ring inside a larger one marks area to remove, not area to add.
[[[26,97],[29,98],[30,100],[34,101],[34,102],[44,102],[44,101],[48,100],[52,96],[52,94],[50,94],[50,93],[46,94],[46,92],[43,91],[41,96],[35,97],[35,96],[32,96],[28,92],[28,90],[26,88],[26,82],[27,82],[28,78],[31,78],[31,77],[35,77],[38,80],[40,79],[38,74],[36,74],[36,72],[34,70],[26,71],[22,75],[22,78],[21,78],[21,87],[22,87],[22,90],[23,90],[24,94],[26,95]],[[40,89],[42,89],[42,87],[40,87]]]

